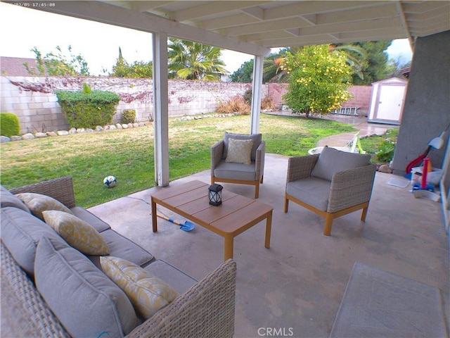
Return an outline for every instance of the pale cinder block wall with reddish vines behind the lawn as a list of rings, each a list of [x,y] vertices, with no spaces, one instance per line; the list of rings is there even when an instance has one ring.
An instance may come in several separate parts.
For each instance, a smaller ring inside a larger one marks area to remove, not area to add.
[[[84,82],[93,90],[108,90],[120,95],[113,123],[121,122],[124,109],[135,109],[137,122],[153,119],[152,79],[12,76],[1,76],[0,79],[0,111],[18,115],[21,134],[68,130],[69,126],[54,93],[56,90],[82,90]],[[168,85],[169,117],[212,113],[221,101],[243,95],[250,87],[247,83],[188,80],[169,80]],[[281,106],[286,87],[287,84],[264,84],[262,97],[269,95]],[[357,87],[350,90],[355,91]],[[359,99],[358,104],[347,102],[346,105],[366,107],[370,95],[366,102],[360,104],[364,100]]]

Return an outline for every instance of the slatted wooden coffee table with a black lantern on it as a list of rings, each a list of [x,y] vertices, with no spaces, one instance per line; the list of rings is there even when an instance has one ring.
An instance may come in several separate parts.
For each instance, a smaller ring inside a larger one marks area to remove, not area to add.
[[[233,240],[241,232],[266,219],[264,246],[270,247],[272,211],[267,204],[222,190],[222,204],[211,206],[208,199],[210,184],[191,181],[162,189],[151,195],[153,232],[158,231],[156,205],[178,213],[225,239],[224,261],[233,258]]]

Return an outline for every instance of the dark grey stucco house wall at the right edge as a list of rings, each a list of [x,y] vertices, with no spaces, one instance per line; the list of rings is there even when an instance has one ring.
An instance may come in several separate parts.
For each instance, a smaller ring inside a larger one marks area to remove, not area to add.
[[[428,142],[450,123],[450,31],[418,38],[414,48],[403,116],[394,154],[394,174],[423,154]],[[447,132],[448,139],[450,131]],[[430,151],[430,161],[442,168],[446,149]],[[450,177],[446,177],[447,182]]]

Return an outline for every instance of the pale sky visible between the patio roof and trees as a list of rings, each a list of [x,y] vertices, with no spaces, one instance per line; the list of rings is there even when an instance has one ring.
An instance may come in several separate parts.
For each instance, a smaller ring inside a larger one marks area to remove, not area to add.
[[[106,74],[111,72],[119,55],[119,47],[128,63],[152,61],[150,33],[2,2],[0,32],[0,56],[35,58],[31,51],[33,47],[45,55],[56,53],[56,46],[68,55],[70,45],[72,54],[81,55],[88,63],[91,75],[105,75],[103,69],[107,70]],[[401,64],[412,58],[407,39],[394,40],[387,53]],[[249,54],[222,50],[221,59],[231,74],[251,58],[253,56]]]

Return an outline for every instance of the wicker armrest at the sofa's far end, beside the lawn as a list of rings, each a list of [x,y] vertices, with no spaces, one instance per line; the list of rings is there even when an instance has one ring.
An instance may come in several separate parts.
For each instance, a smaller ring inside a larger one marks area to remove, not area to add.
[[[59,177],[54,180],[27,184],[23,187],[11,189],[12,194],[21,194],[25,192],[34,192],[35,194],[43,194],[53,199],[57,199],[68,208],[74,208],[75,192],[73,191],[72,177]]]

